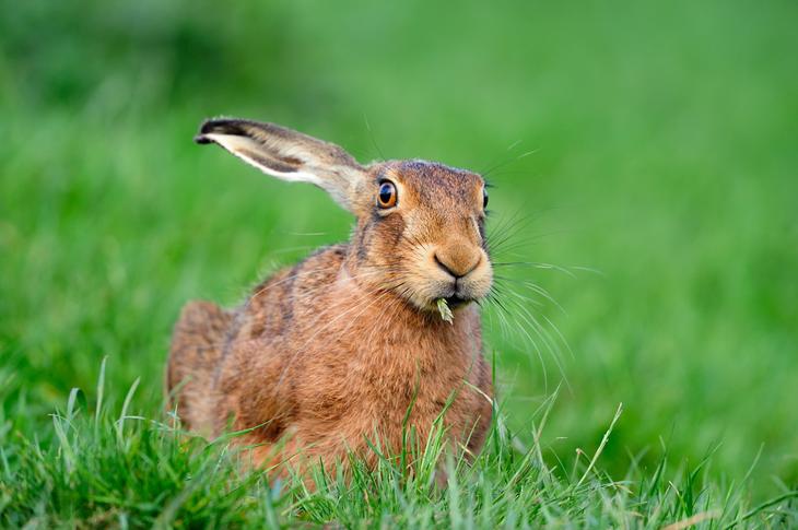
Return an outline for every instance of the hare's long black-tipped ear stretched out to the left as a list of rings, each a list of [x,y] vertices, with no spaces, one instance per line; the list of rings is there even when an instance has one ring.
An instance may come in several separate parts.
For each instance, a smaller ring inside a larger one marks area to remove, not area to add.
[[[352,212],[366,182],[363,166],[338,145],[273,123],[209,119],[195,141],[218,143],[273,177],[315,184]]]

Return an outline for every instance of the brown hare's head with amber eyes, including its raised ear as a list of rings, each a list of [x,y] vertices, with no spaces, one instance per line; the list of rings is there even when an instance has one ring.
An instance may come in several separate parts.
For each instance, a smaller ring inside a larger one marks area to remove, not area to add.
[[[348,267],[359,281],[429,310],[438,298],[459,307],[488,295],[488,193],[479,175],[415,160],[362,166],[338,145],[239,119],[206,121],[196,140],[283,180],[315,184],[355,214]]]

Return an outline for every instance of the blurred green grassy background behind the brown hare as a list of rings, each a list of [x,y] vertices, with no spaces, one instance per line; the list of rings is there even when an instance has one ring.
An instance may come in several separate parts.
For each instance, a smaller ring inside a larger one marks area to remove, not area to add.
[[[348,237],[321,191],[191,143],[224,114],[492,169],[496,260],[558,266],[497,268],[485,319],[511,423],[562,385],[552,461],[623,402],[621,476],[719,444],[718,476],[762,447],[761,490],[798,484],[798,3],[0,5],[0,428],[106,355],[156,414],[181,304]]]

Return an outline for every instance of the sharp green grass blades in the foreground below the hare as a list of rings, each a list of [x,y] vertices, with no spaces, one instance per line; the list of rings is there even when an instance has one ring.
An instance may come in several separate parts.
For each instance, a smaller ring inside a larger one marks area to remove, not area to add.
[[[230,436],[208,444],[181,431],[175,417],[133,413],[136,384],[120,408],[103,401],[104,366],[93,414],[74,389],[66,409],[52,414],[50,443],[3,440],[3,526],[674,529],[798,521],[798,492],[751,506],[744,483],[706,480],[708,458],[674,471],[662,459],[653,475],[632,467],[622,480],[611,480],[596,462],[620,407],[589,462],[570,472],[550,468],[537,440],[554,397],[528,433],[536,440],[529,447],[497,411],[485,450],[472,463],[444,451],[437,428],[399,458],[374,446],[380,455],[374,471],[351,457],[351,479],[316,468],[315,488],[296,476],[270,483],[263,473],[244,471],[227,448]],[[436,479],[442,470],[445,486]]]

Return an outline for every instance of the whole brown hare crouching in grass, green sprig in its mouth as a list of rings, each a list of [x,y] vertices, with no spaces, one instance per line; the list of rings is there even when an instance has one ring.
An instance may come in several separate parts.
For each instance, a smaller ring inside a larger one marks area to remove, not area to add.
[[[332,143],[243,119],[208,120],[195,140],[325,189],[357,224],[348,244],[280,270],[238,308],[183,308],[166,389],[186,426],[249,429],[233,443],[259,467],[345,464],[350,451],[373,466],[375,438],[396,455],[445,410],[447,439],[477,454],[493,410],[477,304],[493,281],[482,177],[420,160],[363,166]]]

